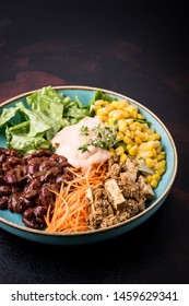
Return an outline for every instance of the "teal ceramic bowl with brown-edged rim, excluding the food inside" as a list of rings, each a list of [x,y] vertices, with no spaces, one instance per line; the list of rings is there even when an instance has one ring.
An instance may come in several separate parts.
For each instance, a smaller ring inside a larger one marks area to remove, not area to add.
[[[96,87],[88,86],[58,86],[54,87],[58,92],[63,93],[72,98],[75,96],[79,99],[86,104],[93,97]],[[152,127],[156,129],[156,132],[162,136],[162,145],[166,152],[167,160],[167,169],[163,175],[158,187],[155,189],[155,199],[147,205],[147,208],[141,212],[140,214],[133,216],[132,219],[125,221],[120,224],[114,225],[108,228],[97,229],[94,232],[86,233],[78,233],[78,234],[49,234],[45,231],[31,229],[25,227],[22,223],[22,216],[16,213],[12,213],[9,210],[0,210],[0,227],[4,231],[12,233],[13,235],[20,236],[25,239],[50,244],[50,245],[80,245],[80,244],[88,244],[94,242],[105,240],[118,235],[121,235],[126,232],[133,229],[139,226],[143,222],[145,222],[151,215],[153,215],[157,209],[163,204],[166,197],[168,196],[172,186],[174,184],[176,173],[177,173],[177,151],[174,143],[174,140],[165,127],[165,125],[155,116],[150,109],[140,103],[135,102],[132,98],[129,98],[122,94],[118,94],[111,91],[107,91],[104,89],[99,89],[104,93],[117,97],[118,99],[128,99],[130,104],[137,106],[141,114],[145,116],[147,121],[152,123]],[[15,96],[7,102],[2,103],[0,109],[4,107],[14,106],[17,101],[25,102],[25,98],[32,92],[24,93],[22,95]],[[0,146],[5,148],[5,137],[0,129]]]

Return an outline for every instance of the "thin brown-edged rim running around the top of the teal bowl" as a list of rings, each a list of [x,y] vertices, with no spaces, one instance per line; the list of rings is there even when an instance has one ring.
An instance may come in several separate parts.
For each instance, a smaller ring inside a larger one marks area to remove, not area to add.
[[[11,226],[11,227],[14,227],[16,229],[20,229],[20,231],[23,231],[23,232],[27,232],[27,233],[31,233],[31,234],[37,234],[37,235],[42,235],[42,236],[56,236],[56,237],[75,237],[75,236],[88,236],[88,235],[93,235],[93,234],[97,234],[97,233],[104,233],[104,232],[107,232],[107,231],[113,231],[114,228],[118,228],[118,227],[122,227],[122,226],[126,226],[127,224],[131,223],[131,222],[134,222],[137,221],[138,219],[144,216],[145,214],[147,214],[150,211],[152,211],[153,209],[155,209],[156,207],[158,207],[158,204],[167,197],[167,195],[169,193],[170,189],[172,189],[172,186],[174,184],[174,180],[175,180],[175,177],[176,177],[176,174],[177,174],[177,168],[178,168],[178,155],[177,155],[177,150],[176,150],[176,145],[175,145],[175,142],[173,140],[173,137],[170,136],[168,129],[165,127],[165,125],[161,121],[161,119],[153,113],[147,107],[145,107],[144,105],[140,104],[139,102],[137,102],[135,99],[133,98],[130,98],[123,94],[119,94],[117,92],[114,92],[114,91],[109,91],[109,90],[105,90],[105,89],[102,89],[102,87],[93,87],[93,86],[83,86],[83,85],[59,85],[59,86],[52,86],[52,89],[55,90],[84,90],[84,91],[96,91],[96,90],[99,90],[99,91],[103,91],[104,93],[107,93],[107,94],[110,94],[110,95],[115,95],[119,98],[122,98],[122,99],[129,99],[131,103],[135,104],[137,106],[139,106],[139,108],[141,109],[144,109],[146,113],[149,113],[161,126],[162,128],[165,130],[167,137],[169,138],[169,141],[172,143],[172,146],[173,146],[173,150],[174,150],[174,170],[173,170],[173,177],[167,186],[167,188],[165,189],[165,191],[161,195],[161,197],[158,197],[153,204],[151,204],[149,208],[146,208],[143,212],[137,214],[135,216],[125,221],[125,222],[121,222],[121,223],[118,223],[118,224],[115,224],[113,226],[109,226],[109,227],[106,227],[106,228],[99,228],[99,229],[94,229],[94,231],[88,231],[88,232],[81,232],[81,233],[48,233],[48,232],[45,232],[45,231],[40,231],[40,229],[33,229],[33,228],[29,228],[29,227],[24,227],[22,225],[19,225],[19,224],[15,224],[11,221],[8,221],[3,217],[0,216],[0,222],[7,224],[8,226]],[[29,94],[32,94],[33,92],[37,91],[37,90],[40,90],[40,89],[36,89],[36,90],[33,90],[33,91],[29,91],[29,92],[25,92],[23,94],[20,94],[17,96],[14,96],[12,98],[9,98],[7,99],[5,102],[1,103],[0,104],[0,108],[15,99],[19,99],[19,98],[22,98],[22,97],[25,97]]]

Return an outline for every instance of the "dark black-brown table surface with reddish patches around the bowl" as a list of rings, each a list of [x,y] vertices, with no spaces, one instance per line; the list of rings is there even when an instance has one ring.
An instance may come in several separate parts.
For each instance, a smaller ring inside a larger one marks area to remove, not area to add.
[[[0,283],[189,283],[187,1],[64,2],[1,3],[0,103],[44,85],[119,92],[166,125],[178,172],[151,219],[104,243],[48,246],[1,229]]]

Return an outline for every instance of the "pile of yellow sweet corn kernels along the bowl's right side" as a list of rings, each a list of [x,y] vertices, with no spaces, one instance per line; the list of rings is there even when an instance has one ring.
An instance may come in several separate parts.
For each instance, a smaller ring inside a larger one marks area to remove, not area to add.
[[[138,160],[143,158],[152,170],[146,179],[152,188],[156,188],[166,170],[166,155],[161,144],[161,136],[127,99],[111,103],[98,99],[94,103],[94,111],[106,126],[117,125],[117,141],[120,145],[110,148],[111,154],[119,156],[120,163],[127,160],[128,154]]]

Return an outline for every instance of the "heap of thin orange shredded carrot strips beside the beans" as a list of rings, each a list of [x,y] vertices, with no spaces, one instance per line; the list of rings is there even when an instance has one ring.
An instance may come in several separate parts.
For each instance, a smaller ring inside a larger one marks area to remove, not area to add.
[[[81,169],[69,168],[74,175],[73,180],[62,185],[56,195],[54,205],[49,205],[46,221],[46,231],[51,233],[78,233],[90,229],[86,217],[88,215],[85,200],[86,190],[102,183],[107,173],[107,163],[93,164],[85,174]]]

